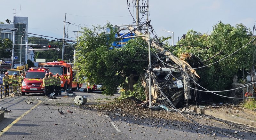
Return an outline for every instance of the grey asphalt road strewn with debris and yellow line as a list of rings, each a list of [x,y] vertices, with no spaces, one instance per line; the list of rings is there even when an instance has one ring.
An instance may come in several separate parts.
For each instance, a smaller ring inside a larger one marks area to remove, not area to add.
[[[76,92],[87,97],[86,105],[111,102],[119,94],[109,97],[100,92]],[[27,104],[26,101],[32,101]],[[46,105],[47,104],[47,105]],[[84,106],[86,106],[84,105]],[[117,116],[84,108],[74,104],[74,97],[48,99],[43,94],[31,94],[23,97],[0,99],[0,106],[12,110],[5,113],[0,122],[0,140],[77,140],[77,139],[233,139],[219,133],[201,128],[195,123],[158,120],[158,125],[150,119]],[[62,109],[60,114],[58,109]],[[69,113],[74,111],[75,113]],[[243,139],[255,139],[255,134],[242,132],[241,129],[228,126],[219,121],[201,120],[205,126],[234,134]],[[226,126],[226,127],[225,127]],[[209,134],[209,135],[207,135]],[[244,135],[243,135],[244,134]]]

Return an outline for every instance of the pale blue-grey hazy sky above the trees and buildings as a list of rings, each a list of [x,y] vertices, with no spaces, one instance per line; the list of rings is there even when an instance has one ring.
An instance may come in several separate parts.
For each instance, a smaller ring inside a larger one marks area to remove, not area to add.
[[[132,5],[133,0],[128,0]],[[0,21],[13,21],[16,16],[28,17],[28,32],[63,38],[64,19],[74,23],[69,25],[69,40],[75,40],[77,24],[92,27],[106,25],[128,25],[136,18],[136,9],[127,7],[127,0],[11,0],[1,1]],[[174,45],[183,34],[193,29],[202,34],[210,34],[213,25],[222,21],[236,26],[242,23],[248,28],[255,25],[255,0],[149,0],[149,19],[158,36],[172,35]],[[142,15],[140,15],[142,17]],[[7,23],[5,23],[7,24]],[[81,30],[81,28],[79,28]],[[172,39],[169,40],[172,44]]]

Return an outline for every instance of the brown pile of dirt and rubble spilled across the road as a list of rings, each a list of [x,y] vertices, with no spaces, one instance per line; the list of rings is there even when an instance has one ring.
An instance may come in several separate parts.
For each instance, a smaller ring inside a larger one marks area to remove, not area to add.
[[[129,117],[134,120],[137,119],[164,119],[170,121],[180,121],[189,122],[186,118],[177,112],[167,112],[167,111],[153,111],[149,108],[142,108],[142,101],[135,97],[128,97],[123,100],[115,100],[114,102],[108,104],[98,104],[98,105],[84,105],[87,109],[96,110],[98,112],[104,112],[108,115],[112,115],[114,118],[118,117]]]

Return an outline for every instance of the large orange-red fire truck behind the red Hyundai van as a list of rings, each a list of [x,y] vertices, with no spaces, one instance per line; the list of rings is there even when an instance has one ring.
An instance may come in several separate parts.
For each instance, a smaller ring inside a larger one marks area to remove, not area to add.
[[[72,88],[72,90],[78,90],[81,88],[82,84],[78,84],[74,78],[75,70],[72,68],[72,63],[65,61],[47,62],[44,68],[49,69],[53,76],[56,76],[57,73],[60,75],[62,89],[67,90],[68,88]]]

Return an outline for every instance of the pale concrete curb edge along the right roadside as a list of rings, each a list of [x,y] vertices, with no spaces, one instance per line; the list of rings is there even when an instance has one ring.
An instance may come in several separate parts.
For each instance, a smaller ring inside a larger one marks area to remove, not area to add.
[[[238,124],[245,124],[245,125],[249,125],[250,127],[251,126],[256,127],[256,121],[244,119],[244,118],[237,117],[237,116],[230,116],[230,115],[221,114],[221,113],[214,113],[213,111],[208,111],[208,110],[204,110],[202,108],[196,108],[196,107],[191,107],[191,106],[189,106],[189,109],[194,110],[196,113],[211,115],[215,118],[219,118],[222,120],[231,121],[231,122],[238,123]]]

